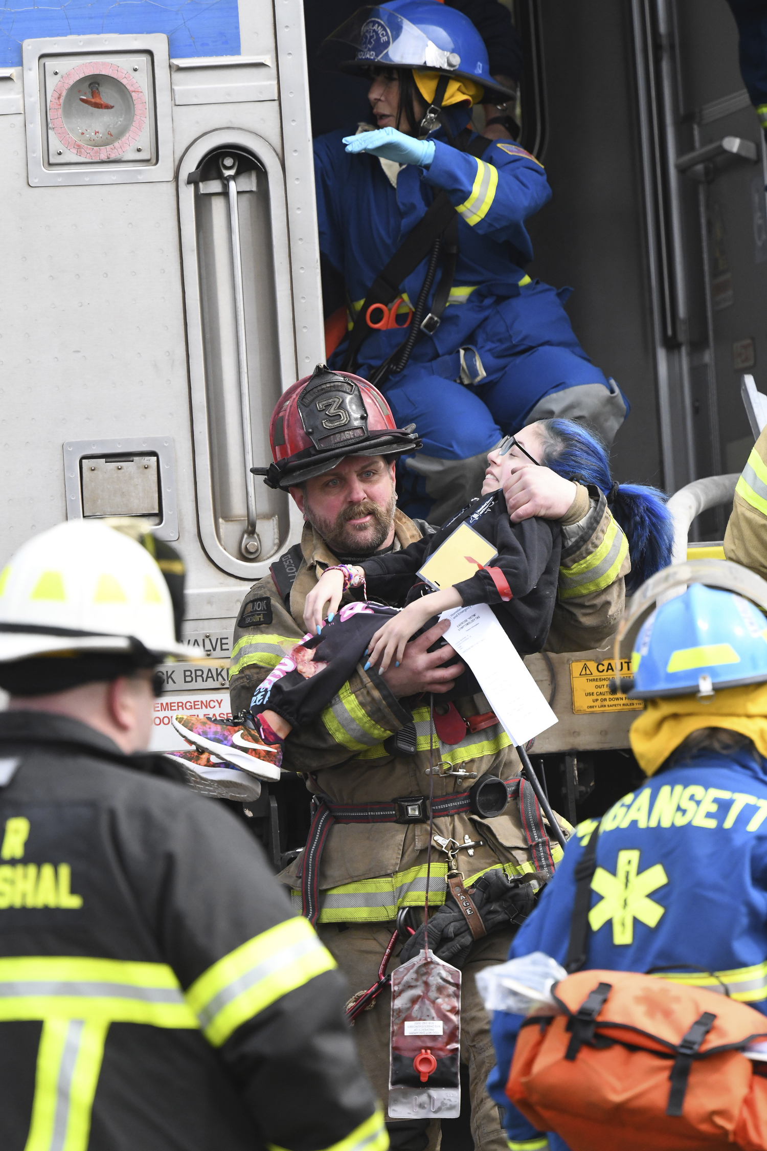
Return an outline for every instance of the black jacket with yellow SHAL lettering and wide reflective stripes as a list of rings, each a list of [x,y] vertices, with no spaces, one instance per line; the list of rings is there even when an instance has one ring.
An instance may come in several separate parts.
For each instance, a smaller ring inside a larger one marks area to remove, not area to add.
[[[0,715],[2,1151],[385,1151],[329,952],[229,813],[132,760]]]

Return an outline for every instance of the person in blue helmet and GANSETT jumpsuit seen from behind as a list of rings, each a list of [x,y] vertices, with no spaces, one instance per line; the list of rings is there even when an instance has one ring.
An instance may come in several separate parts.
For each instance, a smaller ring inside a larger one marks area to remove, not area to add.
[[[542,951],[565,963],[575,867],[598,834],[584,969],[662,971],[767,1015],[767,584],[711,565],[715,587],[692,584],[638,635],[629,694],[646,709],[630,740],[647,782],[576,828],[509,958]],[[743,576],[759,608],[724,589]],[[506,1108],[512,1151],[566,1151],[504,1093],[521,1021],[494,1013],[488,1089]]]

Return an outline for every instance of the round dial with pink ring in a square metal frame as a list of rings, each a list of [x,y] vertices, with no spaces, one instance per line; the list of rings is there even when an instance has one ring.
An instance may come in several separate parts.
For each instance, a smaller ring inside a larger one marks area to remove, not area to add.
[[[68,151],[86,160],[113,160],[144,131],[146,97],[124,68],[87,61],[61,77],[48,112],[51,127]]]

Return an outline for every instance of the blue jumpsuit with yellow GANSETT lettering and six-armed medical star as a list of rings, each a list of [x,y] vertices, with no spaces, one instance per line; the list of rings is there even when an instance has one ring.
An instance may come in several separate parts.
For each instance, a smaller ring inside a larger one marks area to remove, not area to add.
[[[543,951],[565,962],[575,866],[597,825],[576,829],[511,959]],[[727,988],[767,1015],[767,761],[700,752],[626,795],[601,822],[592,889],[585,968]],[[532,1146],[542,1134],[504,1093],[520,1023],[494,1014],[488,1089],[506,1108],[511,1146]],[[550,1134],[549,1146],[567,1145]]]

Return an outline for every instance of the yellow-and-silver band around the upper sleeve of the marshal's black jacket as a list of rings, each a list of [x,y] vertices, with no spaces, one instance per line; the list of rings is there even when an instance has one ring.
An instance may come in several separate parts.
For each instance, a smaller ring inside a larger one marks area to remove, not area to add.
[[[194,981],[186,1001],[208,1043],[220,1047],[246,1020],[335,967],[308,921],[299,916],[220,959]]]

